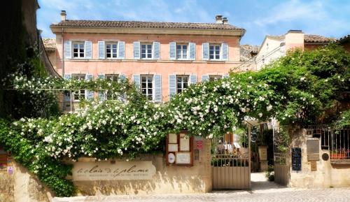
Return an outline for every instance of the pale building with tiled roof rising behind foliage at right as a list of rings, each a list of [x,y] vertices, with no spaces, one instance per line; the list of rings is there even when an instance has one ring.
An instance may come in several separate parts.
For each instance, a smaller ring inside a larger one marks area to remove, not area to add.
[[[286,55],[286,52],[293,48],[314,50],[334,41],[336,41],[335,38],[304,34],[301,30],[290,30],[287,34],[279,36],[266,36],[255,59],[257,70],[260,70],[265,64]]]

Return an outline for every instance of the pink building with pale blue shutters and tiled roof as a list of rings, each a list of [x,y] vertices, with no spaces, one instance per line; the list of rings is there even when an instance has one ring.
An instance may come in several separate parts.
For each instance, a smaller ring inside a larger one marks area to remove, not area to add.
[[[64,10],[61,17],[50,28],[57,48],[52,63],[64,78],[129,78],[160,102],[241,64],[245,30],[222,15],[216,23],[66,20]]]

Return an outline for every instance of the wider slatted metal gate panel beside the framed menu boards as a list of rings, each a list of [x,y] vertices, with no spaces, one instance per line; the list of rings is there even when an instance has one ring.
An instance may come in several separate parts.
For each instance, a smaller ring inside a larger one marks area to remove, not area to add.
[[[251,127],[246,134],[225,134],[212,140],[213,189],[251,187]]]

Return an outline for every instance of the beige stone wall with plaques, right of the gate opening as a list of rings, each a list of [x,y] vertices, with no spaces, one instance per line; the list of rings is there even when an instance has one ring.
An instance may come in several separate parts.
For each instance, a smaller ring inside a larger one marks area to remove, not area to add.
[[[290,130],[291,147],[302,149],[302,170],[292,171],[290,168],[290,187],[298,188],[329,188],[350,187],[350,164],[330,164],[330,160],[322,159],[322,154],[329,156],[329,150],[321,150],[319,144],[319,161],[316,161],[316,171],[311,171],[311,162],[307,160],[307,132],[306,129]],[[314,138],[312,138],[314,139]]]

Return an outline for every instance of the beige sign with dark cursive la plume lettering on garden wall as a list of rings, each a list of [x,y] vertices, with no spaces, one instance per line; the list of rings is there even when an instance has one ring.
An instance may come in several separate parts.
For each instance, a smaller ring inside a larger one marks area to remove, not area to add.
[[[151,180],[155,175],[152,161],[77,162],[73,181],[85,180]]]

